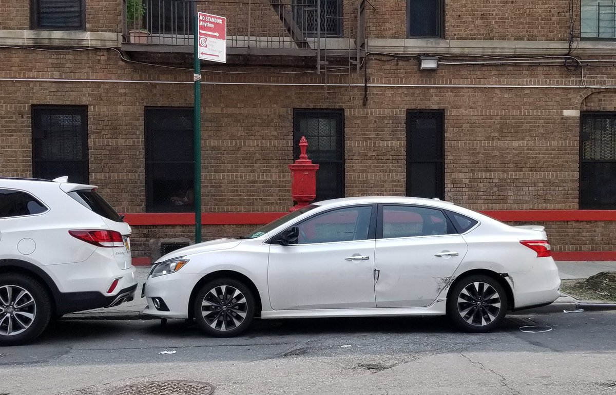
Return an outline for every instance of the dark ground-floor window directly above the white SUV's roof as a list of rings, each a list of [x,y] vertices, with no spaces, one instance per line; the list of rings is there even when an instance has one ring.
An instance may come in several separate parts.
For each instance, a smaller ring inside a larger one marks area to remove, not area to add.
[[[87,107],[32,106],[32,174],[89,183]]]

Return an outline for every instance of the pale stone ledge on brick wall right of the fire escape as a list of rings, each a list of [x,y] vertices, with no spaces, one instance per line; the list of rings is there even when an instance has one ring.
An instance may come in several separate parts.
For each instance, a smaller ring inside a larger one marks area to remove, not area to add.
[[[614,41],[580,41],[575,55],[614,55]],[[563,55],[567,41],[379,39],[368,40],[367,52],[431,55]]]

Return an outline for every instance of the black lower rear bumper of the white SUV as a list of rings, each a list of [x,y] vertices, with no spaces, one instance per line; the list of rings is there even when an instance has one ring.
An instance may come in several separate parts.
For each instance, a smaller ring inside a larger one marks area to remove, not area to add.
[[[103,295],[100,292],[63,292],[57,295],[57,315],[97,309],[101,307],[117,306],[124,301],[131,301],[135,297],[137,284],[121,289],[116,295]]]

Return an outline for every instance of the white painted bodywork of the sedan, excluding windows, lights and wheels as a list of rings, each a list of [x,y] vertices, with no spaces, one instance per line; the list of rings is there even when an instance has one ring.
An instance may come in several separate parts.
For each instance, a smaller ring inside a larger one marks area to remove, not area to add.
[[[266,243],[286,228],[325,210],[367,204],[424,205],[457,212],[479,223],[462,234],[320,244]],[[209,241],[160,258],[156,263],[176,257],[190,261],[176,273],[148,278],[144,313],[188,317],[195,286],[217,271],[235,271],[248,277],[261,297],[263,318],[441,315],[445,314],[447,292],[455,279],[471,271],[502,276],[511,287],[513,309],[549,304],[560,295],[554,260],[537,258],[535,251],[520,243],[545,240],[543,226],[513,227],[433,199],[345,198],[317,206],[253,239]],[[415,249],[404,252],[409,245],[415,245]],[[442,252],[458,255],[434,256]],[[353,255],[369,259],[346,260]],[[170,311],[157,310],[152,297],[163,298]]]

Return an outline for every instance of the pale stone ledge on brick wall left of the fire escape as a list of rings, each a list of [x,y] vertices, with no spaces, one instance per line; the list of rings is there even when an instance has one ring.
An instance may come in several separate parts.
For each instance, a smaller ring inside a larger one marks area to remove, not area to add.
[[[0,30],[0,45],[20,47],[120,47],[119,33],[97,31]]]

